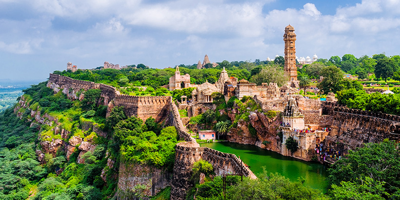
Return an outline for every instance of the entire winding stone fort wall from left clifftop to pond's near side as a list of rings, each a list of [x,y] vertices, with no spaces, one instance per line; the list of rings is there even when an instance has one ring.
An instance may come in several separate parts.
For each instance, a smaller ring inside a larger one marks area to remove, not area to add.
[[[176,146],[175,165],[171,182],[171,200],[186,199],[186,192],[194,186],[190,182],[193,164],[200,159],[210,162],[217,175],[243,173],[245,177],[257,178],[249,168],[242,164],[236,155],[222,153],[208,147],[200,147],[196,139],[187,133],[187,129],[180,119],[178,107],[173,102],[172,97],[120,95],[119,91],[109,85],[74,80],[56,74],[50,74],[47,86],[55,92],[61,90],[68,98],[80,100],[83,99],[84,91],[100,89],[101,104],[109,106],[108,112],[111,110],[110,107],[124,106],[124,113],[127,116],[135,115],[143,121],[151,116],[158,122],[167,120],[168,124],[175,126],[180,138],[186,142],[180,142]]]

